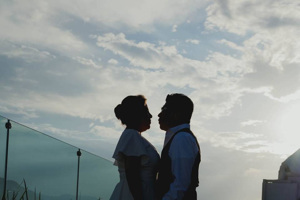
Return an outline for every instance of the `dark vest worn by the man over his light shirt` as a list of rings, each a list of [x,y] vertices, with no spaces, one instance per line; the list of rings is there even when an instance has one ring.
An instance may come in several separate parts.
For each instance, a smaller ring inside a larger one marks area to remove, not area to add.
[[[169,142],[166,144],[166,146],[163,148],[160,163],[159,163],[159,172],[158,172],[158,178],[156,182],[156,196],[157,200],[161,200],[163,196],[169,191],[171,183],[174,182],[174,177],[172,175],[172,162],[171,158],[168,155],[171,143],[173,141],[173,138],[175,135],[177,135],[179,132],[186,132],[191,134],[197,143],[198,147],[198,154],[195,158],[194,165],[192,167],[192,173],[191,173],[191,183],[189,187],[187,188],[187,191],[184,193],[183,199],[185,200],[196,200],[197,199],[197,193],[196,193],[196,187],[199,186],[199,178],[198,178],[198,170],[199,170],[199,164],[201,161],[201,155],[200,155],[200,147],[199,143],[197,141],[196,136],[192,133],[192,131],[189,128],[183,128],[170,138]]]

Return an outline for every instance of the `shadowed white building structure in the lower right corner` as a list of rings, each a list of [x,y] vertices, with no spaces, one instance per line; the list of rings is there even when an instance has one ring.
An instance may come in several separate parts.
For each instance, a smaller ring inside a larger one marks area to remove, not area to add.
[[[281,164],[278,180],[263,179],[262,200],[300,200],[300,149]]]

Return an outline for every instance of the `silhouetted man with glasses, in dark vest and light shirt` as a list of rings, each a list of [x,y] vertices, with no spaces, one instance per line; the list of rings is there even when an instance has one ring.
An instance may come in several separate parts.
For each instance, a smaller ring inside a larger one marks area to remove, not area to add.
[[[171,94],[158,114],[160,129],[166,131],[158,171],[158,200],[196,200],[201,161],[197,138],[190,130],[194,104],[184,94]]]

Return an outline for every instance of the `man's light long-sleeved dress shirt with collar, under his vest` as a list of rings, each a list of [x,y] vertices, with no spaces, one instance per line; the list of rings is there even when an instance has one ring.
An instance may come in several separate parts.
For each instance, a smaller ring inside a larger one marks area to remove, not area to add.
[[[170,128],[166,132],[163,147],[169,142],[174,133],[183,128],[190,128],[190,124],[181,124]],[[195,138],[185,132],[177,133],[171,143],[168,155],[172,160],[172,174],[174,182],[171,183],[169,191],[163,200],[181,200],[191,182],[192,167],[198,154]]]

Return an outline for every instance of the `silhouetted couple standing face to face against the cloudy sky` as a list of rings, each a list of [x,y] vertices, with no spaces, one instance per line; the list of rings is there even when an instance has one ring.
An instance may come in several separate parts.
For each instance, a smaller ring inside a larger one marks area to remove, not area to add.
[[[128,96],[115,108],[126,125],[113,154],[120,182],[110,200],[196,200],[201,161],[197,138],[190,130],[193,102],[184,94],[171,94],[158,114],[166,131],[161,158],[141,133],[152,115],[143,95]]]

